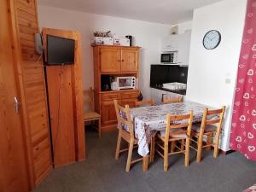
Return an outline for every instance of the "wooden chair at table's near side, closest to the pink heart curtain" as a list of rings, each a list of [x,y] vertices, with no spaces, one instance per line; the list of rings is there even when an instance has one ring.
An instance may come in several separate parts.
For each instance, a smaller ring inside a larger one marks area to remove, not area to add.
[[[224,120],[225,107],[208,110],[206,108],[203,113],[203,118],[200,124],[195,124],[192,126],[192,136],[195,137],[191,139],[192,142],[196,143],[195,149],[197,152],[196,161],[201,162],[202,148],[207,148],[207,150],[214,148],[213,157],[216,159],[218,157],[218,143],[219,135],[221,133],[221,127]],[[207,143],[204,144],[203,137],[207,137]],[[213,139],[215,142],[213,143]]]

